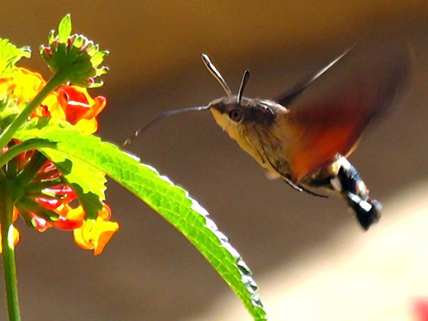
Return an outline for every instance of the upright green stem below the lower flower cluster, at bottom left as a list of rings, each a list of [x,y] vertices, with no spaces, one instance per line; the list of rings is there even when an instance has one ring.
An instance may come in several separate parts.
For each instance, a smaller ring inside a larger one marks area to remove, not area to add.
[[[5,184],[6,183],[6,184]],[[21,320],[18,303],[18,285],[16,280],[15,246],[13,244],[13,200],[5,188],[1,188],[0,223],[3,247],[3,277],[6,289],[7,311],[9,321]]]

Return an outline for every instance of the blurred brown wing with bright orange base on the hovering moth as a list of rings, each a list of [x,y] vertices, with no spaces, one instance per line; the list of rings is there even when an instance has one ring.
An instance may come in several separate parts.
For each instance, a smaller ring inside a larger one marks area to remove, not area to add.
[[[363,130],[389,109],[409,80],[407,44],[357,47],[311,82],[288,106],[290,112],[280,116],[292,129],[288,157],[294,182],[333,162],[336,153],[349,155]]]

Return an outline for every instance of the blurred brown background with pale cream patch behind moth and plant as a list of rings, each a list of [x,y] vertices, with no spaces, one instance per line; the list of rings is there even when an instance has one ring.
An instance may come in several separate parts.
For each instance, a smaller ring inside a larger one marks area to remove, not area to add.
[[[415,82],[351,162],[385,211],[363,233],[345,204],[299,194],[263,171],[207,113],[158,124],[130,150],[185,186],[253,270],[271,320],[411,320],[428,295],[427,1],[3,1],[0,37],[38,55],[71,13],[74,32],[110,50],[99,135],[122,143],[160,111],[222,95],[207,53],[236,90],[270,98],[315,73],[363,33],[394,27],[413,44]],[[21,227],[24,320],[249,320],[211,266],[157,213],[114,183],[120,230],[101,256],[71,233]],[[4,302],[0,300],[0,309]],[[1,317],[4,317],[1,313]]]

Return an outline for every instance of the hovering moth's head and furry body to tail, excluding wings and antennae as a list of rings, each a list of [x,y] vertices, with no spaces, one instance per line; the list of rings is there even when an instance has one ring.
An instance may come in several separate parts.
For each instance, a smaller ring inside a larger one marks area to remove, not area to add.
[[[311,194],[316,194],[313,189],[321,188],[344,197],[366,230],[380,218],[380,203],[369,198],[360,174],[339,153],[329,164],[293,183],[289,155],[291,142],[300,135],[300,129],[284,106],[246,97],[238,104],[236,96],[232,96],[214,100],[210,107],[217,124],[265,169],[268,178],[281,178]]]

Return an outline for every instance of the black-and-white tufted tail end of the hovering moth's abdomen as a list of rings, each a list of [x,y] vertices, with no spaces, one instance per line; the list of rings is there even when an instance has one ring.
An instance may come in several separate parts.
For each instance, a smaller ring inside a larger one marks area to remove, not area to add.
[[[369,197],[369,189],[357,169],[342,155],[309,182],[311,186],[327,188],[340,194],[354,211],[364,230],[379,221],[382,205]]]

